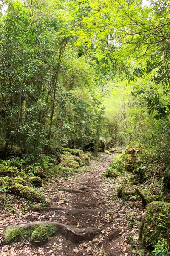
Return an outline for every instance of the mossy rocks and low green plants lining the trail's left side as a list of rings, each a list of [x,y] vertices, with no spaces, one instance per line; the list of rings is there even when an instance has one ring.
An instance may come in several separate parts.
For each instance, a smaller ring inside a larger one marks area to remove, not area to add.
[[[89,155],[91,156],[91,155]],[[44,207],[50,204],[41,190],[48,187],[48,180],[60,179],[84,172],[90,157],[81,150],[62,148],[51,156],[42,155],[35,161],[33,155],[23,154],[1,160],[0,163],[0,209],[15,212],[12,207],[16,198],[25,200],[25,211],[29,207]]]

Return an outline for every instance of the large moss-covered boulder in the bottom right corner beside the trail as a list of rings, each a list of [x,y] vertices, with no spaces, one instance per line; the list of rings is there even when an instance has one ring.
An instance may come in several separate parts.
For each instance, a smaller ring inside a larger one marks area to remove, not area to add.
[[[146,215],[143,219],[139,237],[142,246],[154,247],[158,241],[170,238],[170,203],[151,202],[146,207]]]

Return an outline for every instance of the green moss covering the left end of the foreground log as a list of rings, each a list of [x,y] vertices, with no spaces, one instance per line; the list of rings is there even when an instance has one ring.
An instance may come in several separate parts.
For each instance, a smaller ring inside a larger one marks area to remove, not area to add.
[[[52,224],[30,225],[28,227],[18,227],[11,225],[6,228],[6,244],[12,244],[17,241],[30,240],[36,244],[44,244],[50,236],[57,232],[58,227]]]

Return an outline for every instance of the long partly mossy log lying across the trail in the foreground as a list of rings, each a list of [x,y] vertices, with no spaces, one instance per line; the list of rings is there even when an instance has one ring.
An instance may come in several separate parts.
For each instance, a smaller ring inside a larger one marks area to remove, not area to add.
[[[54,233],[61,233],[68,239],[77,241],[79,239],[92,239],[99,233],[99,228],[76,229],[71,226],[58,222],[32,222],[27,224],[11,225],[5,230],[5,239],[7,244],[25,239],[36,243],[44,243]]]

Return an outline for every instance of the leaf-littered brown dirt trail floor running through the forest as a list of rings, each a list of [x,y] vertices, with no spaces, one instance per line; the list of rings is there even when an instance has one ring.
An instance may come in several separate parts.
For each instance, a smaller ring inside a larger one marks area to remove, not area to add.
[[[22,211],[25,201],[16,197],[13,212],[12,209],[11,213],[6,209],[1,212],[0,256],[139,255],[136,248],[139,248],[139,223],[143,218],[141,202],[117,198],[121,177],[106,179],[103,174],[112,160],[113,156],[101,154],[99,159],[91,161],[84,173],[60,179],[48,177],[41,191],[51,200],[48,209],[40,212],[31,209]],[[59,222],[77,229],[96,227],[99,233],[91,240],[54,235],[46,244],[38,247],[29,241],[3,244],[3,233],[8,225],[35,221]]]

